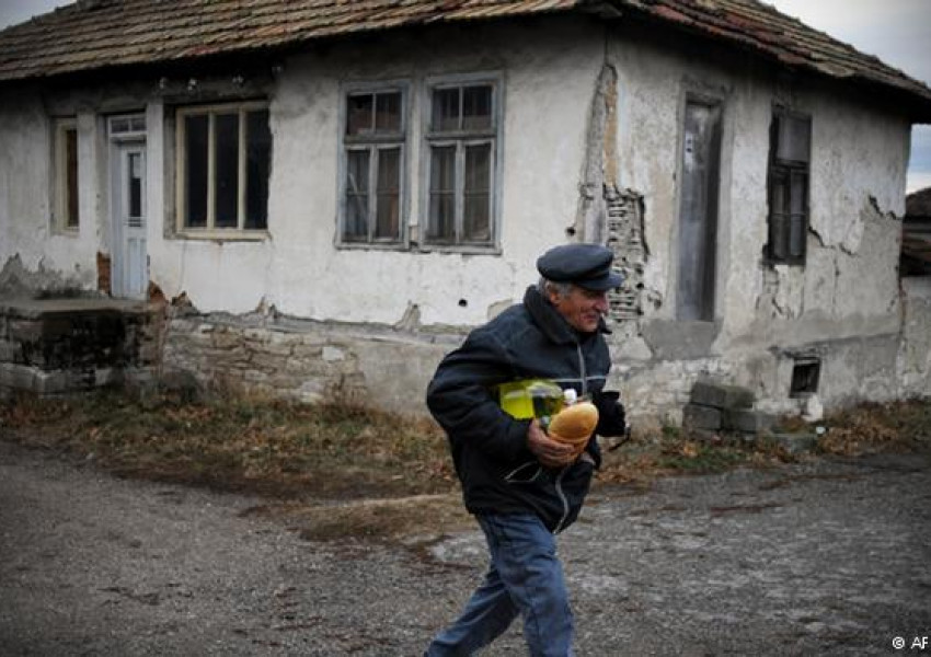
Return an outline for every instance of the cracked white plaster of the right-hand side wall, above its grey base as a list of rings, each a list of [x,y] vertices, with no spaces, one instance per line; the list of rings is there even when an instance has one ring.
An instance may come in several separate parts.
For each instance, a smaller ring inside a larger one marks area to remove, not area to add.
[[[899,217],[909,126],[874,107],[802,87],[793,107],[812,116],[811,226],[804,267],[763,264],[773,103],[765,69],[618,38],[621,185],[644,196],[647,319],[675,319],[681,108],[687,94],[724,107],[719,211],[719,354],[777,344],[895,333]],[[760,73],[763,77],[760,77]],[[801,87],[801,83],[798,83]]]

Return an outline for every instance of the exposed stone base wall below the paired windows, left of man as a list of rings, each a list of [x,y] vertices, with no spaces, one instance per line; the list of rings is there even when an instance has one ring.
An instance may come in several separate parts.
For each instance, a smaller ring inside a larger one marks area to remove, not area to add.
[[[162,370],[207,388],[423,414],[426,384],[453,344],[391,327],[182,312],[169,321]]]

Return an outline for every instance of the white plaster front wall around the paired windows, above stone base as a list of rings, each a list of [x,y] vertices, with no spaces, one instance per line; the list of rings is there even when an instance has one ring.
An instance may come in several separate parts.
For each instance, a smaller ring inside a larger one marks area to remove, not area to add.
[[[165,240],[150,230],[152,279],[169,296],[185,291],[204,311],[240,313],[264,303],[296,316],[386,324],[400,322],[411,307],[423,324],[478,324],[519,300],[536,280],[537,256],[564,242],[574,220],[604,47],[588,38],[586,22],[547,25],[384,37],[288,60],[271,106],[271,238]],[[479,39],[481,49],[474,48]],[[499,73],[504,81],[501,252],[337,249],[341,83],[410,82],[407,208],[415,226],[423,82],[472,72]]]

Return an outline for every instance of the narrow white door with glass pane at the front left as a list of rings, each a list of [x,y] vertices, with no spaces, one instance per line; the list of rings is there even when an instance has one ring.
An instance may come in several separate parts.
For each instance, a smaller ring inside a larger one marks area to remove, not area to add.
[[[114,297],[145,299],[149,287],[146,251],[146,145],[116,143],[113,175]]]

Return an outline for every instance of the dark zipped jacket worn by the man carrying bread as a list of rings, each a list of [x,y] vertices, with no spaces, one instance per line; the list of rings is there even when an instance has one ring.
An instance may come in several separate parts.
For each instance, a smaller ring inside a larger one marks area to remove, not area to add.
[[[465,507],[473,514],[535,512],[554,532],[578,516],[601,454],[595,436],[591,461],[578,459],[545,469],[527,449],[529,419],[515,419],[498,405],[496,387],[541,378],[589,395],[598,406],[596,430],[624,433],[618,394],[604,392],[611,367],[601,333],[573,328],[535,287],[513,306],[472,331],[444,358],[427,389],[427,405],[446,430]]]

